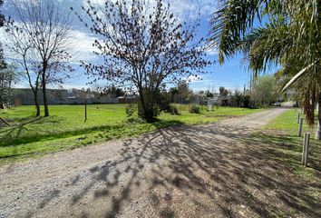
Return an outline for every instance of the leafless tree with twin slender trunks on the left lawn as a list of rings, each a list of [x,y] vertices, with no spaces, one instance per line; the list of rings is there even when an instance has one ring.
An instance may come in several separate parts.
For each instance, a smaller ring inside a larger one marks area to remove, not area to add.
[[[20,60],[34,92],[41,87],[44,98],[44,116],[49,116],[46,88],[50,83],[62,83],[58,73],[72,71],[66,64],[71,55],[71,16],[53,0],[15,0],[12,3],[15,21],[6,22],[6,33],[11,50]],[[31,76],[34,72],[35,76]],[[34,81],[32,81],[34,80]]]

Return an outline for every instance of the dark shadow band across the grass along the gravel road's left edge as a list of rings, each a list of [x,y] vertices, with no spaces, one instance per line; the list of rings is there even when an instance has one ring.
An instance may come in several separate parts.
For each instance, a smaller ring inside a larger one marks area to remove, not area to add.
[[[40,122],[44,122],[44,118],[31,118],[25,119],[26,122],[23,124],[17,125],[15,127],[7,128],[5,131],[2,131],[2,135],[0,135],[0,147],[7,146],[17,146],[23,144],[32,144],[36,142],[48,142],[55,139],[63,139],[78,136],[79,138],[71,142],[67,146],[63,146],[62,148],[55,148],[54,151],[63,150],[67,148],[73,148],[78,146],[83,146],[87,144],[97,143],[97,142],[105,142],[111,140],[113,138],[121,138],[123,136],[132,136],[142,133],[150,132],[151,130],[166,128],[174,125],[182,125],[183,123],[180,121],[165,121],[165,120],[155,120],[155,122],[148,123],[123,123],[123,124],[114,124],[114,125],[102,125],[102,126],[93,126],[89,128],[83,128],[73,131],[65,131],[63,133],[53,133],[48,131],[47,134],[30,134],[25,135],[21,134],[22,131],[26,128],[27,124],[40,124]],[[58,122],[57,119],[55,119]],[[152,127],[153,126],[153,127]],[[5,133],[5,134],[4,134]],[[59,144],[58,144],[59,145]],[[22,148],[22,153],[18,150],[14,149],[12,154],[4,154],[1,158],[17,158],[19,156],[31,155],[31,154],[44,154],[46,150],[40,151],[38,146],[35,148],[30,148],[30,151],[26,152],[25,149],[29,149],[27,147]],[[37,150],[34,150],[37,149]],[[50,148],[48,147],[50,150]]]

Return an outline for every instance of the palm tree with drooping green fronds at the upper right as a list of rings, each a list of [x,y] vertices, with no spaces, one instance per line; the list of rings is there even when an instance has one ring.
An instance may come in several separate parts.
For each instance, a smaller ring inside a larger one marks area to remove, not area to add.
[[[224,63],[225,58],[241,51],[256,75],[265,71],[269,64],[281,65],[282,74],[289,80],[283,91],[296,83],[312,85],[308,96],[303,99],[315,98],[317,92],[319,114],[316,138],[321,139],[321,83],[318,74],[321,2],[220,0],[211,25],[209,44],[219,48],[220,64]],[[305,107],[309,104],[309,101],[303,102]],[[306,117],[311,119],[311,110]]]

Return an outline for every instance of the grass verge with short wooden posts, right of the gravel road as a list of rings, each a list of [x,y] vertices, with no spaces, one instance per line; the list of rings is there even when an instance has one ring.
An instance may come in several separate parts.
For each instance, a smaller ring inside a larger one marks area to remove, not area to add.
[[[297,130],[296,114],[294,110],[288,110],[243,141],[246,144],[255,144],[262,158],[276,160],[276,163],[284,165],[285,172],[289,170],[296,175],[295,180],[306,183],[308,188],[302,189],[302,196],[307,196],[311,203],[318,203],[321,198],[321,142],[314,139],[315,130],[304,125],[303,133],[311,134],[308,167],[305,167],[301,164],[303,137],[297,136]],[[308,206],[305,201],[301,201],[300,205],[303,208]],[[290,212],[296,213],[293,208]],[[273,212],[271,217],[287,215],[277,211]]]

